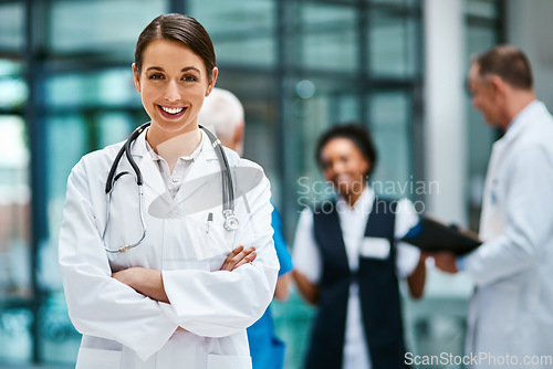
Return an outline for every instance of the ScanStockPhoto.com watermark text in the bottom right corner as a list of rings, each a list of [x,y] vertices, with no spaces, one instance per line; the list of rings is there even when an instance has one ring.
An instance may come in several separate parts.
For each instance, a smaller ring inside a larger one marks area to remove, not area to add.
[[[451,352],[440,352],[439,355],[415,355],[405,354],[405,363],[417,368],[438,367],[466,367],[478,366],[483,368],[545,368],[553,365],[553,355],[542,356],[517,356],[517,355],[493,355],[491,352],[470,352],[468,355],[453,355]]]

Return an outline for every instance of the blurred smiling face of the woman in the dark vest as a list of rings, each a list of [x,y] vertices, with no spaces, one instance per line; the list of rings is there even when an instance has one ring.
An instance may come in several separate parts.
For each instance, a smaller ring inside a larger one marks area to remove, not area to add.
[[[321,168],[324,178],[334,183],[340,194],[351,198],[353,204],[365,188],[371,162],[351,139],[336,137],[323,146]]]

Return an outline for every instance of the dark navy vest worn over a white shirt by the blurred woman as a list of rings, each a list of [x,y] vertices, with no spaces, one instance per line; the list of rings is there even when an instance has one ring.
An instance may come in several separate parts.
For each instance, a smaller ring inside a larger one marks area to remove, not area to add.
[[[314,234],[323,275],[307,369],[342,367],[347,299],[353,281],[359,285],[363,328],[373,369],[406,368],[394,242],[396,204],[377,198],[365,230],[365,236],[390,242],[389,256],[359,256],[359,268],[355,274],[349,271],[336,203],[325,202],[314,210]]]

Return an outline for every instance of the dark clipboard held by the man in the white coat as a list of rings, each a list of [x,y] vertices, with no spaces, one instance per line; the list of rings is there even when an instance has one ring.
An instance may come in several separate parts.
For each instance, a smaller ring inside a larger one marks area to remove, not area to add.
[[[422,217],[401,241],[426,252],[449,251],[456,255],[471,252],[482,244],[474,232],[447,225],[429,217]]]

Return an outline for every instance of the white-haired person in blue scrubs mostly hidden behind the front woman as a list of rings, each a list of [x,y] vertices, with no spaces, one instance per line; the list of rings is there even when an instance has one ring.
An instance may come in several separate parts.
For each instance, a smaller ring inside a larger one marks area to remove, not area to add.
[[[215,130],[221,144],[240,156],[243,154],[244,113],[238,97],[231,92],[215,87],[204,101],[198,122]],[[274,204],[273,204],[274,207]],[[274,297],[285,301],[292,280],[292,259],[282,234],[282,222],[276,208],[272,212],[273,240],[280,262],[279,280]],[[281,369],[284,365],[284,342],[274,333],[270,307],[263,316],[247,329],[253,369]]]

